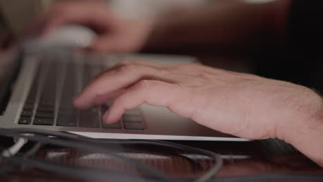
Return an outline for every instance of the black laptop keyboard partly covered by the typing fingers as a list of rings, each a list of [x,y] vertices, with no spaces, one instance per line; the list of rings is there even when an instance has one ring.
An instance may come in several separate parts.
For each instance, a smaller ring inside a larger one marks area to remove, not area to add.
[[[139,108],[128,110],[117,123],[102,121],[108,105],[99,105],[88,110],[76,110],[72,99],[95,74],[106,68],[103,62],[82,60],[62,61],[62,57],[45,57],[39,63],[21,117],[21,125],[57,125],[81,128],[108,128],[145,130]],[[66,59],[66,58],[65,58]],[[59,61],[58,61],[59,60]]]

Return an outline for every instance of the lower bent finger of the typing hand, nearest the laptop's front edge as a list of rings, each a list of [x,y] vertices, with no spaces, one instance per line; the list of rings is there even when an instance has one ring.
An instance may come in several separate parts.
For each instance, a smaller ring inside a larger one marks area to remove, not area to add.
[[[177,84],[142,80],[117,97],[103,119],[106,123],[117,122],[126,110],[136,108],[142,103],[166,106],[175,114],[189,117],[194,109],[189,98],[188,92]]]

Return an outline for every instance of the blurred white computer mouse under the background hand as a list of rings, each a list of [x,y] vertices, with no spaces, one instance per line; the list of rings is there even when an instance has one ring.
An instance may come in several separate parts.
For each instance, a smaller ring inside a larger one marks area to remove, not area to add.
[[[66,25],[52,32],[23,41],[23,49],[30,51],[49,50],[51,48],[86,47],[97,38],[97,34],[85,26]]]

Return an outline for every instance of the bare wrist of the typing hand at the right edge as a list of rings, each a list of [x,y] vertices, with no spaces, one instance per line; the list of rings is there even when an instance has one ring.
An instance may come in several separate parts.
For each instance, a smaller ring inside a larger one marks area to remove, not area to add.
[[[280,132],[277,129],[277,138],[323,166],[323,99],[311,90],[302,100],[295,117],[284,122]]]

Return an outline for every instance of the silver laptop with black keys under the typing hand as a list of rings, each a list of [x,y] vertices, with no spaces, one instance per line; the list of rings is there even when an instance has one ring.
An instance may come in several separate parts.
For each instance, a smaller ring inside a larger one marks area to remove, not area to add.
[[[72,98],[91,77],[122,59],[161,64],[193,63],[193,57],[106,55],[51,50],[0,60],[0,128],[37,128],[106,139],[247,141],[178,117],[164,107],[141,105],[106,125],[109,103],[76,110]],[[113,85],[110,85],[113,87]]]

